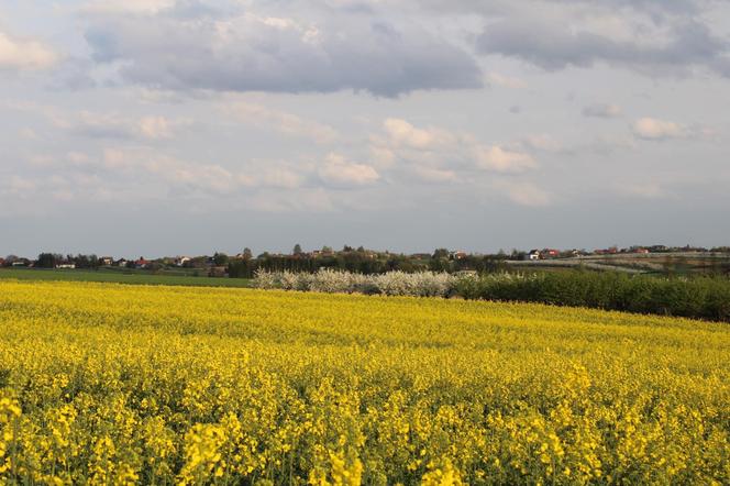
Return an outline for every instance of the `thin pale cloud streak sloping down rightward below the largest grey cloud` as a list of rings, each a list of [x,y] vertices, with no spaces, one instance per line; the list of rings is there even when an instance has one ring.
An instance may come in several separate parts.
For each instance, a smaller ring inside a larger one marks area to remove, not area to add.
[[[289,136],[311,139],[320,144],[332,143],[338,137],[336,130],[330,125],[261,104],[239,102],[225,110],[245,123],[269,128]]]

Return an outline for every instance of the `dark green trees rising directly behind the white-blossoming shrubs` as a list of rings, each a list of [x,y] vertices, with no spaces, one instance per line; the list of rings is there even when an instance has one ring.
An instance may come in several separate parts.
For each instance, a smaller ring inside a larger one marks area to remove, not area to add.
[[[310,254],[270,255],[264,253],[256,258],[231,258],[228,268],[229,276],[233,278],[253,278],[258,270],[314,273],[320,269],[335,269],[364,275],[378,275],[388,272],[413,274],[419,272],[456,273],[475,270],[478,273],[494,273],[507,270],[508,266],[505,263],[507,258],[507,255],[464,255],[456,257],[446,250],[436,250],[433,254],[424,255],[367,251],[342,251],[317,256]]]

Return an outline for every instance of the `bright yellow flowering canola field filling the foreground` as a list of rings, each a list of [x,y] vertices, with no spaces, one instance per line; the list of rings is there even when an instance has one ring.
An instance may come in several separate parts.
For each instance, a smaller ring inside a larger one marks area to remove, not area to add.
[[[728,484],[730,327],[0,283],[0,484]]]

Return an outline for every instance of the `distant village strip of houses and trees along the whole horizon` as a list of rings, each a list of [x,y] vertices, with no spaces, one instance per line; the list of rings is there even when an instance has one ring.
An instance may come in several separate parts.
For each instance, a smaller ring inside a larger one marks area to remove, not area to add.
[[[586,250],[556,250],[556,248],[533,248],[528,251],[512,250],[510,253],[500,251],[496,254],[482,254],[482,253],[467,253],[464,251],[450,251],[445,248],[435,250],[433,253],[391,253],[388,251],[374,251],[366,250],[362,246],[353,248],[344,246],[340,251],[332,247],[324,246],[321,250],[313,250],[305,252],[299,245],[296,245],[291,253],[269,253],[264,252],[254,256],[251,250],[245,248],[236,255],[226,255],[224,253],[215,253],[212,256],[174,256],[174,257],[159,257],[159,258],[114,258],[113,256],[96,256],[96,255],[60,255],[54,253],[42,253],[36,258],[20,257],[15,255],[8,255],[0,257],[0,267],[15,267],[15,268],[56,268],[56,269],[76,269],[76,268],[119,268],[119,269],[136,269],[136,270],[155,270],[162,268],[189,268],[206,270],[206,274],[211,276],[225,276],[232,264],[236,262],[327,262],[334,259],[358,259],[358,261],[384,261],[384,262],[411,262],[416,266],[418,263],[423,262],[463,262],[462,267],[468,268],[465,261],[544,261],[544,259],[560,259],[560,258],[580,258],[590,256],[606,256],[606,255],[649,255],[649,254],[667,254],[667,253],[722,253],[730,254],[730,246],[718,246],[712,248],[698,247],[698,246],[665,246],[665,245],[651,245],[651,246],[630,246],[618,247],[610,246],[607,248],[597,248],[593,251]],[[261,266],[261,265],[259,265]],[[265,265],[264,265],[265,266]],[[297,266],[297,265],[295,265]],[[301,266],[301,265],[299,265]],[[331,266],[327,264],[314,266]],[[438,267],[438,265],[436,265]],[[434,268],[431,263],[425,269]],[[461,268],[463,269],[463,268]]]

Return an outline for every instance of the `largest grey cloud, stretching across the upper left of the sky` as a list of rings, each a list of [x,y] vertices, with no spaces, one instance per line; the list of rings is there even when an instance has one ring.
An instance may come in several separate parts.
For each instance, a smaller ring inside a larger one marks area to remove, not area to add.
[[[118,63],[124,81],[153,88],[396,97],[484,82],[467,52],[366,11],[319,21],[251,11],[195,16],[189,5],[184,13],[91,15],[86,40],[96,62]]]

